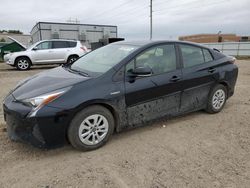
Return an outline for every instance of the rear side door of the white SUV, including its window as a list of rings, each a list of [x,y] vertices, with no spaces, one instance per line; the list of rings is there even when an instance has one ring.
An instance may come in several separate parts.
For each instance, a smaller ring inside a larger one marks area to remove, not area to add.
[[[68,41],[52,41],[52,48],[54,60],[58,63],[64,63],[70,51]]]

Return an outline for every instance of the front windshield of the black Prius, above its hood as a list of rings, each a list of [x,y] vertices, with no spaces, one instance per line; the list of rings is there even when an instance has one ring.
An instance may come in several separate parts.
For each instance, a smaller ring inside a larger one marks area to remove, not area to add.
[[[74,62],[70,69],[99,76],[114,67],[137,48],[138,46],[110,44],[84,55]]]

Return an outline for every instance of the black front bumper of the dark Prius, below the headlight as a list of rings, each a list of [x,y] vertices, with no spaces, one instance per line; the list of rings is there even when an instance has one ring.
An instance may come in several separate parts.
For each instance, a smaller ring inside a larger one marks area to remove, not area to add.
[[[11,140],[39,148],[55,148],[65,144],[70,117],[62,109],[44,106],[36,117],[27,117],[31,108],[8,95],[3,104],[7,133]]]

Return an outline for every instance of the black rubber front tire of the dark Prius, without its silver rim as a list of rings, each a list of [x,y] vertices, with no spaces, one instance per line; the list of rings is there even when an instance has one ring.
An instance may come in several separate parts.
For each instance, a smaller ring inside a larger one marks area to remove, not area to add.
[[[91,115],[96,115],[96,114],[104,116],[106,118],[108,122],[108,131],[106,133],[106,136],[99,143],[94,144],[94,145],[88,145],[88,144],[83,143],[83,141],[81,141],[80,139],[80,136],[78,135],[80,131],[79,130],[80,125],[86,118],[90,117]],[[115,125],[114,125],[113,115],[108,109],[99,105],[90,106],[78,112],[76,116],[73,118],[68,128],[68,139],[69,139],[70,144],[78,150],[82,150],[82,151],[94,150],[103,146],[108,141],[108,139],[111,137],[111,135],[114,132],[114,126]]]

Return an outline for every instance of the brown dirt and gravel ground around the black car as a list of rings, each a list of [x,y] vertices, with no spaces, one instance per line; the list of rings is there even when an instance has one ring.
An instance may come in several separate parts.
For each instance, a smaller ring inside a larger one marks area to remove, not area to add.
[[[249,187],[250,61],[237,64],[236,93],[221,113],[196,112],[115,134],[92,152],[14,143],[1,110],[0,187]],[[0,64],[0,100],[19,80],[42,70],[19,72]]]

